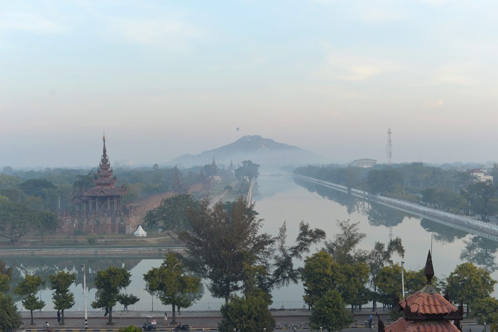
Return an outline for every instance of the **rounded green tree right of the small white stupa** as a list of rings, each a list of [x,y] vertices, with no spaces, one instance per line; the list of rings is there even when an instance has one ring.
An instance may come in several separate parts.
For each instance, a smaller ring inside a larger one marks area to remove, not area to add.
[[[192,195],[175,195],[162,200],[157,208],[148,211],[145,222],[149,227],[160,225],[178,243],[180,234],[191,229],[187,210],[198,207],[199,201],[196,201]]]

